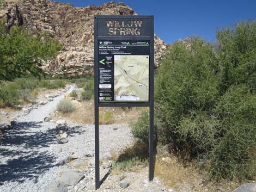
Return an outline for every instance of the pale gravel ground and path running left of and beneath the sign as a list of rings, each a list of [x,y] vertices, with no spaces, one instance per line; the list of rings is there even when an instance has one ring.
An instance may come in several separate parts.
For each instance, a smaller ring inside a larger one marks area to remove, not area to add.
[[[68,143],[58,144],[56,122],[44,121],[56,110],[56,104],[64,98],[64,94],[73,89],[74,85],[69,85],[65,90],[53,92],[54,97],[44,105],[12,113],[17,123],[4,131],[0,140],[0,191],[95,191],[94,125],[67,122]],[[103,161],[109,159],[112,151],[117,152],[132,142],[129,125],[100,126],[100,158]],[[84,162],[82,166],[72,162],[59,165],[72,153]],[[60,176],[66,170],[78,171],[84,178],[78,184],[55,190],[54,184],[58,185]],[[100,177],[103,178],[108,171],[109,168],[101,166]],[[120,181],[128,182],[129,187],[121,188]],[[148,170],[142,168],[140,172],[110,174],[97,191],[173,190],[164,188],[158,178],[148,182]]]

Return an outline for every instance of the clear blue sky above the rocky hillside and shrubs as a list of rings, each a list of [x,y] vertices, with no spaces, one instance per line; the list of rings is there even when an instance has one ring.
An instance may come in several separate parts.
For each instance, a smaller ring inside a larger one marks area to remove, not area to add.
[[[102,5],[104,0],[58,0],[75,7]],[[113,1],[113,0],[112,0]],[[155,34],[167,44],[186,36],[199,35],[216,41],[216,30],[241,20],[256,20],[256,0],[118,0],[138,15],[154,15]]]

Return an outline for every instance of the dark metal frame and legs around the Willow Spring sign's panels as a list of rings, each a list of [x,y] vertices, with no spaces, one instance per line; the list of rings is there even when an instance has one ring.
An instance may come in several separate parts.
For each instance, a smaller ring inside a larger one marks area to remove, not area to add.
[[[130,20],[147,20],[150,23],[147,27],[147,35],[98,35],[98,21],[102,19],[130,19]],[[149,35],[148,35],[149,34]],[[114,101],[99,102],[99,59],[98,59],[98,41],[99,40],[149,40],[149,100],[148,101]],[[95,15],[94,16],[94,113],[95,113],[95,188],[100,188],[100,166],[99,166],[99,107],[149,107],[150,109],[150,130],[149,130],[149,181],[154,178],[154,16],[137,16],[137,15]]]

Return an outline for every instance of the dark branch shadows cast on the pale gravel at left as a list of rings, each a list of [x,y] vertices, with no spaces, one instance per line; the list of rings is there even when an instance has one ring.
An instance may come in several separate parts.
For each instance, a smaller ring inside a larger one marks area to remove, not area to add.
[[[5,131],[0,140],[0,185],[27,179],[36,183],[40,175],[57,166],[57,157],[47,152],[47,147],[57,144],[55,127],[46,130],[41,127],[42,122],[19,122]],[[70,127],[69,137],[83,132],[81,126]]]

